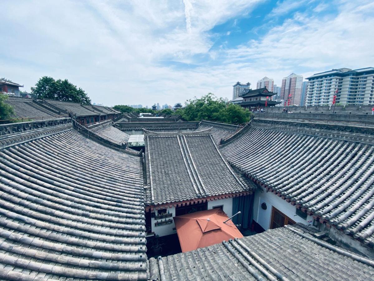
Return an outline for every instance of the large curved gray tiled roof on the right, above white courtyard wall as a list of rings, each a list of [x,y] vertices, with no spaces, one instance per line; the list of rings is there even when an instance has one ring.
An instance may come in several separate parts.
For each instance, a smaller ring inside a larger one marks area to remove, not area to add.
[[[374,245],[374,129],[253,120],[220,150],[241,172]]]

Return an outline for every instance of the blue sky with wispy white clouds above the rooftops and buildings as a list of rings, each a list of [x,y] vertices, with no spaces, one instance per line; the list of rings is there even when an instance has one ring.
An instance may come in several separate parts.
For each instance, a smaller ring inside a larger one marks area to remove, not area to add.
[[[0,0],[0,77],[92,102],[184,103],[264,76],[374,66],[372,0]]]

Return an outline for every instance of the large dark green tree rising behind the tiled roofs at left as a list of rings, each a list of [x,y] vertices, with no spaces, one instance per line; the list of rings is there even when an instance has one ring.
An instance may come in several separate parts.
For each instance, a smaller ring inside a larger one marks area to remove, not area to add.
[[[77,88],[67,79],[55,80],[52,77],[43,76],[31,87],[31,93],[36,99],[61,100],[63,102],[77,102],[90,105],[91,99],[82,88]]]

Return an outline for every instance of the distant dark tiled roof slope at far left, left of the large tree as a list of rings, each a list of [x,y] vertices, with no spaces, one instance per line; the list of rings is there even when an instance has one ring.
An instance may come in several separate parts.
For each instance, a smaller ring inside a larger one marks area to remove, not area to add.
[[[9,98],[5,100],[14,110],[14,117],[28,118],[33,120],[55,119],[58,114],[38,105],[32,99]]]

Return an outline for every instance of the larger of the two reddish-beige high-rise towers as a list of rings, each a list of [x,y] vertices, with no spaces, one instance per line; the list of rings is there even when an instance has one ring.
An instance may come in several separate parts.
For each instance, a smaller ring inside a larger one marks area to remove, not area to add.
[[[302,87],[303,76],[291,73],[282,79],[281,99],[285,101],[286,105],[300,105]]]

